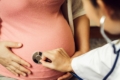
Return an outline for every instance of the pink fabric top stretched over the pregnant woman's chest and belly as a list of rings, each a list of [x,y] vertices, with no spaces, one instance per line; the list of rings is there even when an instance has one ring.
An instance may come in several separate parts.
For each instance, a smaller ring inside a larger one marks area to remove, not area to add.
[[[19,80],[56,80],[63,75],[32,61],[36,51],[64,48],[72,56],[74,39],[60,7],[64,0],[1,0],[1,40],[23,43],[12,51],[32,65],[32,75],[16,77],[0,65],[0,74]]]

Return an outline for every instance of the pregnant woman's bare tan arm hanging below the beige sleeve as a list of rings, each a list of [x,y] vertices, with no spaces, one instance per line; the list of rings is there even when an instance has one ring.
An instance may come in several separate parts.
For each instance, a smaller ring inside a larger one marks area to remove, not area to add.
[[[90,22],[86,15],[74,19],[76,51],[85,53],[89,51]]]

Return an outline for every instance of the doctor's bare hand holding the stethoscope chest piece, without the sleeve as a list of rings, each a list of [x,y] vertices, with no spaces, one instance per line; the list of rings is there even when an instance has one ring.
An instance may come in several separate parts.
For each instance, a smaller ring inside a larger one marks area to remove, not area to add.
[[[46,58],[50,59],[51,62],[46,62]],[[43,52],[42,60],[40,60],[40,62],[43,66],[60,72],[72,71],[71,58],[62,48]]]

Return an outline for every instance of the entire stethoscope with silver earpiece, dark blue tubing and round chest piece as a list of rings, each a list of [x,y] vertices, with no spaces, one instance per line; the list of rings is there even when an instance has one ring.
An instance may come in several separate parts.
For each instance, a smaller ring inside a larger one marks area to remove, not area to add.
[[[115,67],[116,67],[116,64],[118,62],[118,59],[119,59],[119,54],[120,54],[120,49],[119,50],[116,50],[116,46],[115,44],[112,43],[112,41],[106,36],[105,32],[104,32],[104,22],[105,22],[105,16],[103,16],[101,19],[100,19],[100,23],[101,23],[101,34],[102,36],[104,37],[104,39],[111,44],[112,48],[113,48],[113,52],[114,54],[116,54],[116,58],[115,58],[115,61],[114,61],[114,64],[111,68],[111,70],[108,72],[108,74],[102,79],[102,80],[107,80],[108,77],[113,73]],[[32,56],[32,59],[35,63],[37,64],[41,64],[40,60],[42,59],[42,52],[35,52]],[[46,59],[46,62],[51,62],[49,59]],[[83,80],[82,78],[80,78],[77,74],[73,73],[73,72],[70,72],[74,77],[76,77],[78,80]]]

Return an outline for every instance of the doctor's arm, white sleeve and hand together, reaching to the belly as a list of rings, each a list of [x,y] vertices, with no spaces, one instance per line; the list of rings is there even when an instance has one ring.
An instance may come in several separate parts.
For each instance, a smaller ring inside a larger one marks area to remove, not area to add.
[[[52,62],[45,62],[45,58]],[[94,49],[82,56],[71,59],[63,49],[43,53],[42,65],[61,72],[74,71],[88,80],[102,80],[109,72],[115,59],[111,45]]]

